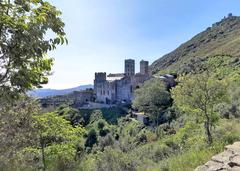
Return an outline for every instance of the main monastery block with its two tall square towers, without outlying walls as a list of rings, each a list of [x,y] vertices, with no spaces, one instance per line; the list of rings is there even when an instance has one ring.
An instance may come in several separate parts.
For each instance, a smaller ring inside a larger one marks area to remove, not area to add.
[[[134,90],[139,88],[149,76],[149,63],[140,62],[140,73],[135,74],[135,61],[125,60],[124,73],[109,74],[106,72],[95,73],[94,93],[96,102],[114,104],[133,100]]]

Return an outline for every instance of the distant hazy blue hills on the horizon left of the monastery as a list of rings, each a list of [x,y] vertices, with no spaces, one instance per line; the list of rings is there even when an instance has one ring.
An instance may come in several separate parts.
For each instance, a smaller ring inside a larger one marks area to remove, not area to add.
[[[93,88],[92,85],[81,85],[78,87],[73,87],[73,88],[68,88],[68,89],[61,89],[61,90],[56,90],[56,89],[36,89],[33,91],[28,92],[29,95],[34,96],[34,97],[47,97],[47,96],[57,96],[57,95],[65,95],[72,93],[74,91],[80,91],[80,90],[85,90],[88,88]]]

